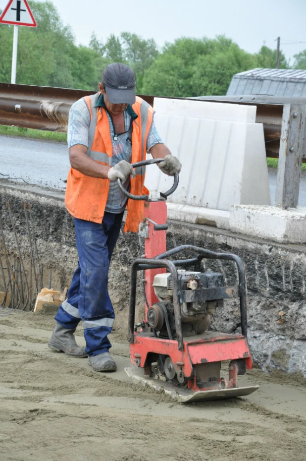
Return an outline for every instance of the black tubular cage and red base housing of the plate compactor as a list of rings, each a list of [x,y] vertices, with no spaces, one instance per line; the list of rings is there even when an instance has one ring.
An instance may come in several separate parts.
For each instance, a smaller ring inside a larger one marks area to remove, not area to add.
[[[192,250],[199,254],[196,258],[192,259],[175,261],[165,259],[186,250]],[[201,261],[204,258],[231,260],[237,265],[239,277],[238,286],[223,287],[223,289],[202,288],[201,294],[203,296],[203,291],[207,291],[209,298],[215,296],[215,300],[232,298],[239,295],[242,335],[204,332],[193,339],[187,338],[184,340],[183,338],[180,303],[196,301],[197,291],[199,290],[190,290],[187,292],[185,290],[179,290],[177,266],[194,266],[194,270],[200,272]],[[154,337],[152,332],[148,331],[135,331],[137,272],[164,267],[168,269],[172,276],[176,340],[157,338]],[[212,292],[213,290],[215,291],[215,295]],[[171,357],[176,373],[183,372],[184,376],[188,379],[188,389],[191,389],[193,392],[204,391],[213,389],[213,387],[199,388],[197,386],[195,365],[231,360],[236,363],[232,363],[230,366],[229,381],[227,383],[223,379],[222,383],[218,383],[217,389],[220,389],[220,386],[225,386],[228,389],[236,388],[238,374],[244,374],[246,369],[252,368],[252,358],[246,339],[247,329],[245,269],[243,261],[239,256],[231,253],[215,253],[193,245],[182,245],[158,255],[154,259],[138,258],[133,262],[129,310],[131,362],[137,367],[143,368],[145,375],[150,376],[151,374],[152,354],[167,355]]]

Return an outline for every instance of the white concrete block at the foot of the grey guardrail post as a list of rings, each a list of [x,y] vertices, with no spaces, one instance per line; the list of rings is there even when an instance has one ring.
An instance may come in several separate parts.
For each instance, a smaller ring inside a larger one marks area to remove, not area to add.
[[[229,228],[254,237],[280,243],[306,243],[306,207],[282,208],[234,205]]]

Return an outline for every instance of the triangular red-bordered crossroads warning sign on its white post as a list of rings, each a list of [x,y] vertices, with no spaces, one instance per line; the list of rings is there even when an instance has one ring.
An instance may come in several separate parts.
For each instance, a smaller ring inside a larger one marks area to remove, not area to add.
[[[37,27],[27,0],[9,0],[0,16],[1,24],[14,26],[11,83],[16,83],[18,26]]]

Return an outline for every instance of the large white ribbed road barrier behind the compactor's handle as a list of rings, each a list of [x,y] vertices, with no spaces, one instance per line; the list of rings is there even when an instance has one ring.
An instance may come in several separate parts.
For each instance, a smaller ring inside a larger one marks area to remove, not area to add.
[[[180,185],[168,199],[170,219],[229,229],[231,205],[270,205],[255,106],[155,98],[154,109],[162,139],[183,164]],[[157,168],[146,177],[153,197],[171,183]]]

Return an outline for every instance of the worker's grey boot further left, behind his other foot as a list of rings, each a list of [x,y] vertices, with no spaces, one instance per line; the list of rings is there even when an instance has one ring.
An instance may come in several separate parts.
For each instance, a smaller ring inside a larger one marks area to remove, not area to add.
[[[65,352],[71,357],[87,357],[85,347],[76,344],[74,332],[75,330],[64,328],[56,322],[48,346],[56,352]]]

